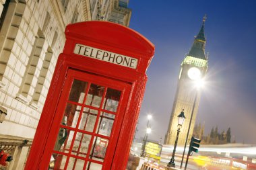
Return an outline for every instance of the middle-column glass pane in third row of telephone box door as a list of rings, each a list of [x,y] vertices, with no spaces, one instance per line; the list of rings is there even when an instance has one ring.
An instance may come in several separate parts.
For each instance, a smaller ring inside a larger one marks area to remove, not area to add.
[[[72,148],[72,154],[80,157],[86,157],[91,138],[92,136],[89,134],[77,132]]]

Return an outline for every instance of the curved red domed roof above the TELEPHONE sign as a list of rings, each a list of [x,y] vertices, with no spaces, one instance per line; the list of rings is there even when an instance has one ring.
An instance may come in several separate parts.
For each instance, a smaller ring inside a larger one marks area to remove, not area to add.
[[[148,58],[153,56],[155,50],[154,44],[138,32],[112,22],[90,21],[69,24],[65,34],[70,39],[91,39],[94,42],[143,54]]]

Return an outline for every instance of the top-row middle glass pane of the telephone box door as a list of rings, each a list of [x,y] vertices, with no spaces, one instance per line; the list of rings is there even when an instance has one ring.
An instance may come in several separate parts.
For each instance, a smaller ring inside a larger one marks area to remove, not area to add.
[[[100,102],[102,99],[104,88],[105,87],[100,85],[91,84],[88,95],[86,97],[86,105],[92,105],[95,108],[100,108]]]

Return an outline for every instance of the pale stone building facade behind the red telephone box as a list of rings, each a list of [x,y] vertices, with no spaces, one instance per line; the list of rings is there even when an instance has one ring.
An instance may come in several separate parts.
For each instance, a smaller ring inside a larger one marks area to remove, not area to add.
[[[129,26],[129,1],[0,0],[0,150],[22,169],[65,44],[65,26],[104,20]]]

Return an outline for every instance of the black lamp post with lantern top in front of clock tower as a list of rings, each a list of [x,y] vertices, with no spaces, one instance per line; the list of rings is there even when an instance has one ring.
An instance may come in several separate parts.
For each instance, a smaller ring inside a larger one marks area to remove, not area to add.
[[[183,122],[186,118],[183,111],[184,111],[184,109],[182,110],[181,114],[179,114],[179,116],[178,116],[179,120],[178,120],[177,136],[176,136],[176,140],[175,140],[175,144],[174,144],[174,148],[173,148],[173,152],[172,152],[172,158],[170,159],[170,162],[168,163],[167,167],[175,167],[174,156],[175,156],[175,152],[176,152],[177,142],[178,142],[178,138],[179,138],[179,134],[181,132]]]

